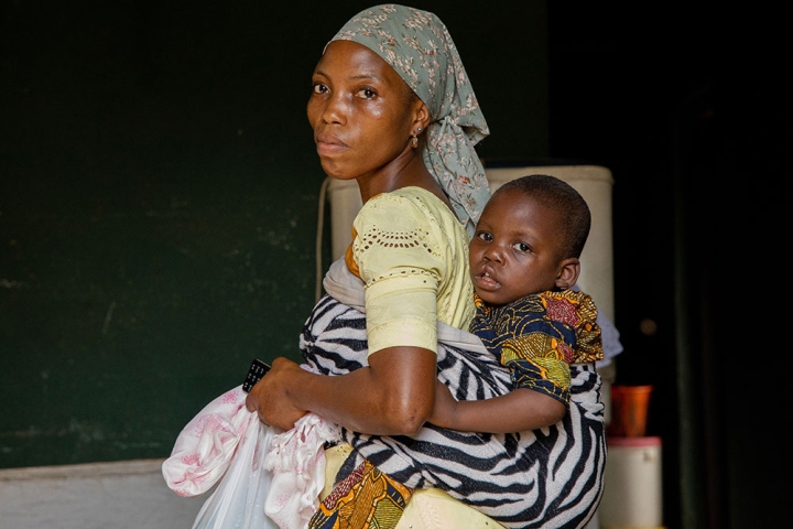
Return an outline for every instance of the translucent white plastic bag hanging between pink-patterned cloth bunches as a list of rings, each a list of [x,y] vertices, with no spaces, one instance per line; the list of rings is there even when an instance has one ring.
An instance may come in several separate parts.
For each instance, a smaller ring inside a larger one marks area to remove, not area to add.
[[[263,462],[275,429],[251,415],[231,464],[198,511],[193,529],[279,529],[264,514],[272,473]]]

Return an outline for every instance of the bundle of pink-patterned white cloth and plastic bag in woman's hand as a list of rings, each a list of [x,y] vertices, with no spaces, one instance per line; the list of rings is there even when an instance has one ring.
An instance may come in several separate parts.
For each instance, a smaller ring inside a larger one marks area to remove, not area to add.
[[[340,431],[306,413],[282,431],[245,406],[238,386],[209,402],[176,438],[162,472],[180,496],[217,488],[193,529],[302,529],[325,483],[326,441]]]

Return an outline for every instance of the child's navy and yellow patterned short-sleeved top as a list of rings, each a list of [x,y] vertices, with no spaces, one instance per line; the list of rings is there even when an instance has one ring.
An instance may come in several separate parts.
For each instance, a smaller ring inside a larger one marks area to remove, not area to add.
[[[470,331],[510,368],[514,388],[529,388],[565,404],[571,395],[571,364],[604,358],[597,307],[589,294],[564,290],[487,306],[475,295]]]

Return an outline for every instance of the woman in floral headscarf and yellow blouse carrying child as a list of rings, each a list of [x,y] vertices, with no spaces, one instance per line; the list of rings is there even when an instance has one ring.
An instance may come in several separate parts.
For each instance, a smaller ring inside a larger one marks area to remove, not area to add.
[[[489,130],[448,31],[425,11],[385,4],[354,17],[326,46],[313,86],[307,116],[322,166],[332,177],[356,180],[363,203],[346,257],[325,279],[332,295],[319,301],[301,341],[307,363],[334,376],[275,358],[247,406],[284,430],[307,412],[344,428],[349,444],[337,452],[349,457],[309,527],[369,527],[372,517],[377,527],[395,527],[403,509],[409,517],[411,497],[420,496],[415,489],[434,484],[433,468],[411,466],[400,451],[437,452],[438,466],[448,466],[459,465],[469,439],[489,446],[481,436],[425,424],[436,378],[458,398],[491,397],[510,387],[492,357],[466,356],[467,347],[481,348],[466,332],[475,312],[466,228],[472,229],[489,197],[474,149]],[[596,401],[597,387],[591,386]],[[589,411],[601,430],[602,408]],[[562,428],[550,438],[564,442],[569,435]],[[535,498],[533,527],[550,520],[555,521],[547,527],[583,527],[591,517],[600,494],[602,436],[589,445],[598,450],[587,454],[594,463],[584,476],[585,494],[573,500],[554,489],[567,484],[580,492],[567,475],[551,489],[544,479],[517,484],[520,495]],[[547,450],[543,445],[545,460]],[[575,463],[555,457],[564,468]],[[329,467],[335,473],[334,464]],[[575,508],[561,516],[567,507],[548,501]],[[449,512],[493,523],[466,509],[455,504]],[[512,527],[520,525],[525,523]]]

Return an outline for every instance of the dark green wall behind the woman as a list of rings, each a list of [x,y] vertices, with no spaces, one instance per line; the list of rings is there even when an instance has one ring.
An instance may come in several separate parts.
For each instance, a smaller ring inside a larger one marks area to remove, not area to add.
[[[251,358],[300,358],[309,75],[371,2],[72,3],[0,13],[0,467],[164,457]],[[415,6],[460,50],[486,163],[547,156],[545,2]]]

